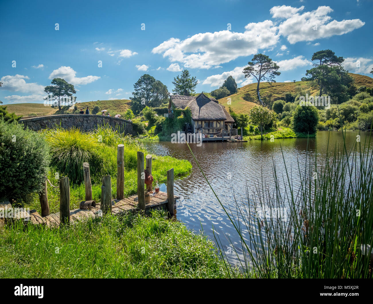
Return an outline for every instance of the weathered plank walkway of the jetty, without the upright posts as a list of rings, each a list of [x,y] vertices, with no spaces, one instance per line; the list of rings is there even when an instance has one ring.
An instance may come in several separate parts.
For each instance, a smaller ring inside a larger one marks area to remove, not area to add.
[[[174,196],[175,201],[179,199],[179,196]],[[150,197],[150,203],[145,205],[145,214],[149,213],[151,209],[160,209],[167,205],[167,193],[159,191],[154,196]],[[122,200],[112,200],[112,213],[114,215],[120,215],[125,212],[138,212],[140,209],[137,207],[137,195],[126,197]],[[87,218],[96,218],[102,215],[100,205],[97,204],[90,210],[84,209],[73,209],[70,210],[70,223],[81,221]],[[41,216],[36,210],[31,210],[29,213],[32,224],[42,224],[51,226],[60,225],[60,213],[52,213],[47,216]]]

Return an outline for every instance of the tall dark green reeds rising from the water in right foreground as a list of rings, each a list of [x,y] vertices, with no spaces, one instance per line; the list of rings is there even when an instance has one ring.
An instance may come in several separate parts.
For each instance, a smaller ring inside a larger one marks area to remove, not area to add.
[[[241,239],[246,277],[372,278],[370,136],[351,147],[344,139],[343,148],[327,151],[325,159],[316,152],[307,151],[304,165],[298,160],[296,180],[283,157],[283,174],[273,163],[274,183],[263,177],[252,190],[247,187],[248,204],[236,201],[231,210],[220,203]],[[219,239],[217,244],[226,260]]]

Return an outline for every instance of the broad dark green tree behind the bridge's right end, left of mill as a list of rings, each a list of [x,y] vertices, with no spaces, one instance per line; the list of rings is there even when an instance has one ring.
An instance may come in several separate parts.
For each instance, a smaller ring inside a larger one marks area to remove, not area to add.
[[[159,80],[149,74],[144,74],[134,84],[135,92],[131,97],[131,110],[138,114],[146,106],[159,107],[167,98],[168,90]]]

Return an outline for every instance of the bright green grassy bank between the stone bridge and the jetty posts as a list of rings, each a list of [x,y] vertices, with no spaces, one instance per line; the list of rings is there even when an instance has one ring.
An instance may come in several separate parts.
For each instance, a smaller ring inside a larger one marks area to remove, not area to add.
[[[117,145],[125,145],[124,152],[124,195],[137,192],[137,151],[147,154],[144,145],[129,136],[123,136],[106,127],[100,127],[90,133],[82,133],[77,129],[47,129],[41,132],[50,146],[52,163],[48,179],[58,186],[59,178],[68,176],[70,180],[70,209],[79,207],[85,199],[85,187],[82,177],[83,162],[90,164],[93,199],[100,201],[102,177],[111,175],[112,196],[116,196]],[[183,159],[171,156],[153,155],[152,175],[154,184],[166,183],[167,170],[174,168],[175,177],[190,172],[192,165]],[[47,183],[48,202],[51,213],[59,211],[59,188]],[[26,206],[40,212],[40,202],[36,193],[32,194]]]

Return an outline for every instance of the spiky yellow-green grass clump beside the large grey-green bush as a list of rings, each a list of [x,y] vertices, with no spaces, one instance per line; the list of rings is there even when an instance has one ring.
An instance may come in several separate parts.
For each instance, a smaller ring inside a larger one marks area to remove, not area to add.
[[[90,134],[82,133],[75,127],[56,127],[46,129],[43,133],[50,146],[52,165],[57,167],[60,174],[68,175],[73,183],[83,181],[84,162],[90,165],[100,162],[96,153],[99,143]]]

